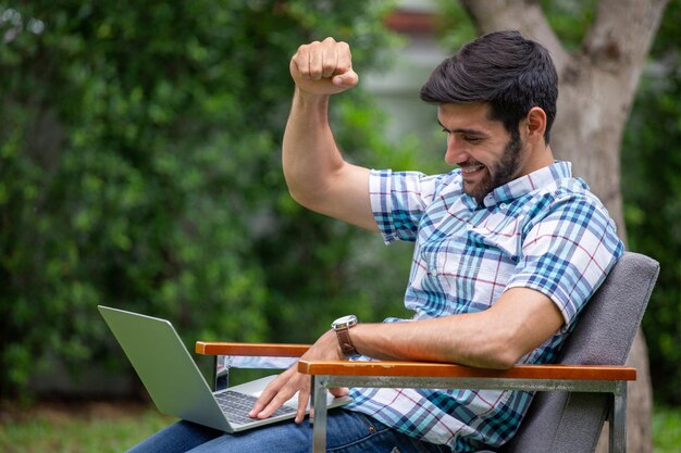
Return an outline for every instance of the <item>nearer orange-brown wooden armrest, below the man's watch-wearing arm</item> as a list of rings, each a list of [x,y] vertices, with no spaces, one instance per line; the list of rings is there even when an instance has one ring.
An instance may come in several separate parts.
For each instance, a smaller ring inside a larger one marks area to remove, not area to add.
[[[487,369],[424,362],[299,361],[298,372],[306,375],[331,376],[636,380],[636,368],[610,365],[516,365],[509,369]]]

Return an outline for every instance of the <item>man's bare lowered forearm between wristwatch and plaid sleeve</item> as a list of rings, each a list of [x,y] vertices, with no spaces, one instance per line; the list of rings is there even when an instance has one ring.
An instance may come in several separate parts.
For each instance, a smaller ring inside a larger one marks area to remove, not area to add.
[[[562,315],[546,295],[513,288],[482,312],[407,323],[359,324],[350,336],[361,354],[379,360],[508,368],[555,335],[562,323]]]

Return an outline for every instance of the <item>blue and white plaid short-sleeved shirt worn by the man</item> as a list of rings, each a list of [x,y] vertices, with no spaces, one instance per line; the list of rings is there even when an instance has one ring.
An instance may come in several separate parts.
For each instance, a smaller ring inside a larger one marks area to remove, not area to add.
[[[413,319],[479,312],[516,287],[550,298],[565,326],[524,364],[554,360],[623,251],[607,211],[567,162],[496,188],[483,205],[463,193],[460,169],[373,171],[370,191],[386,243],[416,241],[405,294]],[[354,411],[455,452],[507,442],[532,400],[498,390],[352,389],[351,397]]]

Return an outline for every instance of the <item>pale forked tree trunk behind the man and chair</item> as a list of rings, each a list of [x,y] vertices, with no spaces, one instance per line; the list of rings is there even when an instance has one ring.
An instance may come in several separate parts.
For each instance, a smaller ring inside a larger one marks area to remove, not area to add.
[[[479,33],[518,29],[542,42],[559,75],[558,115],[552,149],[571,161],[615,219],[622,240],[627,228],[620,190],[620,144],[636,86],[667,0],[600,0],[582,49],[568,53],[548,25],[538,1],[461,0]],[[629,387],[629,451],[651,453],[652,388],[647,350],[639,331],[628,364],[639,369]],[[603,450],[599,442],[599,449]]]

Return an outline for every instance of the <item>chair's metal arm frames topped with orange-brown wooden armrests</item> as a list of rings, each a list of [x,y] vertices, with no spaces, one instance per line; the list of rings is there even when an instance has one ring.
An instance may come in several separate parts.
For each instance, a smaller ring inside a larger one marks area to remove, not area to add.
[[[214,355],[299,357],[307,344],[197,341],[196,352]],[[627,451],[627,382],[636,369],[609,365],[516,365],[508,369],[474,368],[424,362],[298,362],[312,378],[313,452],[326,448],[326,392],[334,387],[468,388],[525,391],[597,392],[609,394],[609,452]],[[218,390],[219,382],[213,382]]]

